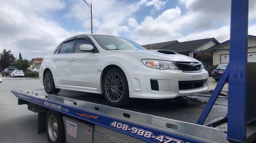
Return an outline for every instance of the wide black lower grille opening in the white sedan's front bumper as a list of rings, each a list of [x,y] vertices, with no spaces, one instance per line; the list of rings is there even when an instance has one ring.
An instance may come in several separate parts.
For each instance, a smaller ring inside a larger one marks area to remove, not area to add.
[[[179,81],[179,90],[188,90],[192,88],[202,87],[207,79],[195,81]]]

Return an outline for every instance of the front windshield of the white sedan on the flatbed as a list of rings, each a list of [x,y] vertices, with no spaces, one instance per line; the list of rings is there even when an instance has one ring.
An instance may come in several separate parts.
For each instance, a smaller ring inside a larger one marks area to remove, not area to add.
[[[93,38],[105,50],[145,50],[141,45],[125,38],[107,35],[93,35]]]

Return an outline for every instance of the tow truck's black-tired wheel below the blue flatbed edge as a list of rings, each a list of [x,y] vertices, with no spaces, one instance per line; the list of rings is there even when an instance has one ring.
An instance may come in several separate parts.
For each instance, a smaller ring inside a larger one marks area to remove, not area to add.
[[[62,120],[62,115],[58,114],[57,112],[53,110],[48,110],[46,115],[46,134],[49,143],[65,143],[66,142],[66,135],[65,135],[65,127]],[[52,121],[56,121],[54,125],[52,124]],[[56,125],[57,124],[57,128]],[[52,126],[53,125],[53,126]],[[55,134],[54,131],[58,129],[57,134]]]

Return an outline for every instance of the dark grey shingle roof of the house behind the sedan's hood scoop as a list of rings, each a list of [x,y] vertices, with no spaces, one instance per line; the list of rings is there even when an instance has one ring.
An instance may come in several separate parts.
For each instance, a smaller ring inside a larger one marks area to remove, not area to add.
[[[191,51],[211,40],[214,40],[215,42],[219,43],[215,38],[207,38],[207,39],[198,39],[198,40],[192,40],[192,41],[186,41],[186,42],[173,43],[170,45],[166,45],[165,47],[160,49],[173,50],[175,52]]]

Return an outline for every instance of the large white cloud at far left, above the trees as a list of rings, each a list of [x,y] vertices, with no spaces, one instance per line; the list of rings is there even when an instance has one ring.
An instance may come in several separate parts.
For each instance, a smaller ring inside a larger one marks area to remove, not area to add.
[[[66,31],[51,20],[51,12],[65,8],[59,0],[4,0],[0,3],[0,51],[12,50],[17,57],[32,59],[49,54],[65,38]]]

